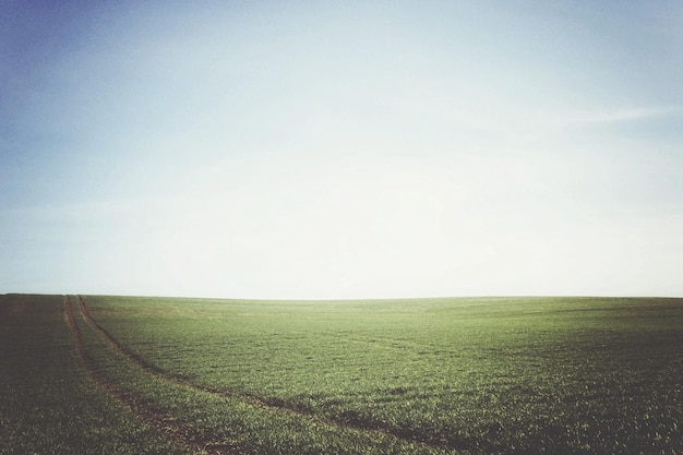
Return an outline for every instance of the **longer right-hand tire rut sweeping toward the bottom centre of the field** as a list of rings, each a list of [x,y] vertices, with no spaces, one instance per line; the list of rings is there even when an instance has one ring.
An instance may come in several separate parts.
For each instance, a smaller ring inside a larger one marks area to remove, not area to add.
[[[277,398],[268,399],[268,398],[264,398],[264,397],[260,397],[255,395],[240,394],[240,393],[236,393],[231,391],[217,390],[217,388],[206,387],[206,386],[192,383],[181,376],[168,373],[167,371],[164,371],[159,367],[156,367],[147,362],[146,360],[141,358],[139,355],[131,351],[125,346],[121,345],[113,336],[111,336],[111,334],[109,334],[109,332],[107,332],[106,328],[104,328],[101,325],[99,325],[99,323],[97,323],[97,321],[93,319],[89,311],[87,310],[87,307],[85,304],[83,297],[82,296],[76,296],[76,297],[79,300],[79,310],[83,319],[88,323],[88,325],[91,325],[92,328],[94,328],[100,335],[100,337],[113,350],[122,354],[124,357],[129,359],[129,361],[131,361],[132,363],[134,363],[135,366],[137,366],[139,368],[147,372],[148,374],[159,378],[164,381],[170,382],[176,385],[183,385],[189,388],[192,388],[199,392],[205,392],[205,393],[219,396],[223,398],[239,400],[239,402],[245,403],[248,405],[251,405],[257,408],[278,410],[281,412],[287,412],[289,415],[297,416],[299,418],[313,419],[317,422],[321,422],[323,424],[334,427],[334,428],[352,429],[352,430],[363,431],[367,433],[374,433],[374,434],[381,434],[384,436],[396,438],[399,441],[404,441],[406,443],[416,445],[417,447],[423,447],[426,450],[429,450],[429,448],[432,448],[432,450],[435,448],[435,450],[442,450],[442,451],[457,450],[457,451],[462,451],[463,454],[470,453],[468,447],[452,447],[452,446],[444,446],[443,444],[439,444],[434,442],[421,441],[417,435],[411,434],[407,431],[402,431],[400,429],[383,427],[383,426],[378,426],[378,424],[367,424],[361,421],[348,422],[348,421],[334,420],[334,419],[325,418],[313,411],[289,406],[285,400],[280,400]]]

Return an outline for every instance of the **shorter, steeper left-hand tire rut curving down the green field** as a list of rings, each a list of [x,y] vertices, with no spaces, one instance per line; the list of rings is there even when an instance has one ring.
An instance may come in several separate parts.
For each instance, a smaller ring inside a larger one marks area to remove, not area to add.
[[[81,302],[79,303],[79,306],[81,306]],[[209,442],[200,441],[196,438],[190,436],[191,428],[179,426],[175,422],[172,416],[165,415],[163,412],[159,412],[158,410],[151,408],[149,406],[145,406],[141,397],[134,395],[131,392],[127,392],[121,390],[120,387],[117,387],[112,382],[110,382],[107,378],[105,378],[104,374],[101,374],[97,370],[95,361],[87,352],[87,349],[85,347],[85,342],[83,340],[81,328],[75,322],[71,299],[69,298],[69,296],[64,296],[64,316],[67,320],[67,324],[69,325],[69,328],[71,331],[71,336],[75,345],[76,355],[81,358],[87,375],[97,386],[103,388],[110,396],[113,396],[119,403],[130,409],[142,421],[151,424],[161,433],[166,434],[176,444],[184,446],[194,453],[207,453],[206,450],[211,448]],[[233,451],[220,451],[214,453],[220,453],[226,455],[236,454],[236,452]]]

